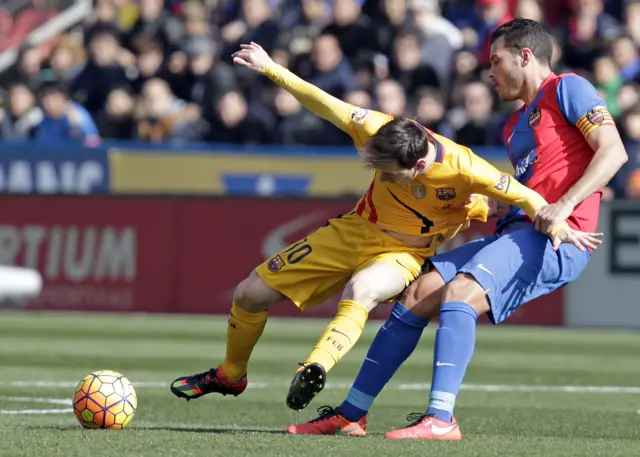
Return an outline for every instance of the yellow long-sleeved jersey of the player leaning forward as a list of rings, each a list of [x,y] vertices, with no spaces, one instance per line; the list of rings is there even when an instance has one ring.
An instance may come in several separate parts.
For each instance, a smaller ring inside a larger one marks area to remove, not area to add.
[[[280,65],[265,67],[262,73],[292,93],[305,108],[347,132],[359,151],[394,118],[332,97]],[[469,148],[421,127],[436,149],[433,164],[406,187],[380,181],[376,171],[369,190],[355,207],[357,214],[385,230],[434,237],[431,247],[436,247],[455,236],[466,221],[487,220],[488,209],[482,199],[468,203],[472,194],[518,206],[531,218],[547,204],[537,192],[500,172]]]

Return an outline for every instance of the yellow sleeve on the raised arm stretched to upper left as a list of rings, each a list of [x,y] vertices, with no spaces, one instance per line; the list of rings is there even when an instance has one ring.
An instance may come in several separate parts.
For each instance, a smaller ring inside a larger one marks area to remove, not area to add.
[[[347,132],[356,147],[362,147],[370,136],[393,119],[392,116],[343,102],[280,65],[269,65],[262,73],[291,93],[302,106],[316,116]]]

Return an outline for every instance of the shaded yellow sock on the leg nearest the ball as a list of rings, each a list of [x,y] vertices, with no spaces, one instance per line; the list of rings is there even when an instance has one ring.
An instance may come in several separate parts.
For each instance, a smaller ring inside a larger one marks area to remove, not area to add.
[[[237,381],[247,372],[249,357],[267,323],[267,312],[250,313],[234,303],[227,327],[227,357],[222,371],[229,381]]]

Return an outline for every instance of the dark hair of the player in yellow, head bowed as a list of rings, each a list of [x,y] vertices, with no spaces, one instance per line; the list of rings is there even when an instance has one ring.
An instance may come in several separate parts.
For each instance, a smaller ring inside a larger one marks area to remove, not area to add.
[[[410,169],[427,155],[426,129],[406,117],[383,125],[369,140],[366,164],[373,168],[395,163]]]

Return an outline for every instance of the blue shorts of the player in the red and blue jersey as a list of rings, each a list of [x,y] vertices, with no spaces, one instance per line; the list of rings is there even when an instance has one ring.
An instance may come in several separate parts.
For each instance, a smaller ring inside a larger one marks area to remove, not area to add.
[[[572,244],[553,250],[551,239],[527,221],[512,222],[493,235],[431,258],[446,283],[458,273],[472,275],[491,306],[489,319],[504,321],[518,306],[574,281],[591,254]]]

